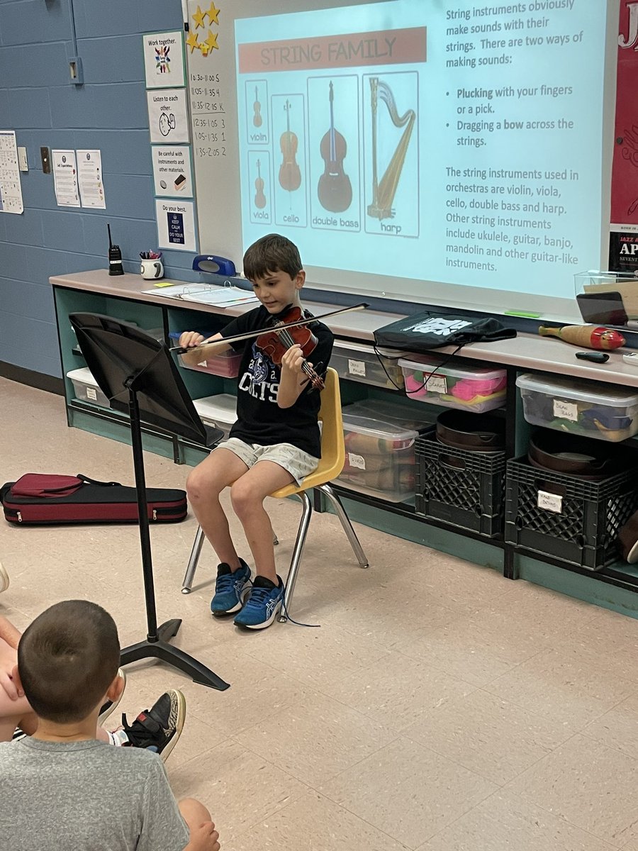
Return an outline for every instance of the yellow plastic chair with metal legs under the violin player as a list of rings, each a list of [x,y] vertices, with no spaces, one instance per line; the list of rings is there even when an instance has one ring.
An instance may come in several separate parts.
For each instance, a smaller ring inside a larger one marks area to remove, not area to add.
[[[296,484],[286,485],[285,488],[279,488],[273,491],[271,496],[283,499],[286,496],[293,494],[299,496],[303,510],[297,538],[294,542],[293,556],[290,560],[290,568],[288,569],[288,578],[286,580],[286,592],[284,594],[284,608],[279,615],[280,622],[284,623],[288,618],[286,613],[290,610],[290,603],[293,599],[294,585],[297,581],[297,573],[299,571],[299,563],[301,555],[304,551],[305,539],[308,534],[308,526],[310,517],[312,516],[312,503],[308,496],[308,491],[311,488],[317,488],[328,497],[330,503],[341,525],[344,528],[345,534],[350,541],[350,545],[356,555],[357,561],[362,568],[367,568],[367,557],[362,550],[362,545],[356,537],[355,530],[352,528],[350,519],[345,513],[344,506],[341,505],[339,496],[335,494],[329,483],[336,477],[344,468],[345,462],[345,446],[344,446],[344,423],[341,417],[341,394],[339,393],[339,375],[333,368],[328,367],[328,372],[325,379],[325,387],[322,390],[321,408],[319,409],[319,420],[322,423],[322,458],[316,471],[306,476],[303,485],[299,488]],[[278,543],[276,537],[275,543]],[[197,528],[197,534],[191,550],[186,567],[184,581],[182,582],[182,593],[188,594],[191,591],[197,562],[202,544],[204,542],[204,533],[202,527]]]

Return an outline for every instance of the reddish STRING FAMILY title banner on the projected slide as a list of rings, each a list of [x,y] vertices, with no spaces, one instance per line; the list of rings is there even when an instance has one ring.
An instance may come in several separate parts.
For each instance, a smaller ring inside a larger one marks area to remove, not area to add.
[[[241,74],[425,61],[424,26],[239,45]]]

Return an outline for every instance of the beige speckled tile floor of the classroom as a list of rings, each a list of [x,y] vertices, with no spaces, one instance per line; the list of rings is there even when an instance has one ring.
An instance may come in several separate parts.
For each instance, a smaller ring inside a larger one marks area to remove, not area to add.
[[[63,403],[0,380],[3,480],[27,471],[132,483],[130,449],[67,429]],[[150,485],[186,469],[146,457]],[[285,569],[299,510],[271,501]],[[234,530],[239,534],[236,523]],[[157,607],[176,643],[230,683],[129,667],[122,706],[188,702],[168,761],[177,796],[211,809],[226,851],[638,851],[638,622],[358,527],[310,528],[294,611],[321,629],[239,634],[213,620],[214,554],[180,580],[192,518],[152,529]],[[0,525],[0,612],[24,627],[88,597],[122,643],[145,634],[136,528]]]

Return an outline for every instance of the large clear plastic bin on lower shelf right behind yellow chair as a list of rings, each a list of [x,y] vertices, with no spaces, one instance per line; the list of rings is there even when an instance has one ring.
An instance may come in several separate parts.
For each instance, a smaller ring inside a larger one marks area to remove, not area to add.
[[[414,441],[434,427],[405,405],[378,400],[346,405],[345,465],[337,480],[345,488],[402,502],[414,496]]]

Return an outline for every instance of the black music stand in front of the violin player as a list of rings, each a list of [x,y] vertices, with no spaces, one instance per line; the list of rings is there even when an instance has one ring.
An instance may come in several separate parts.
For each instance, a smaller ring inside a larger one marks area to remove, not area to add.
[[[111,400],[111,408],[129,414],[131,420],[148,634],[145,641],[122,650],[121,663],[160,659],[184,671],[196,683],[223,691],[229,683],[168,643],[177,634],[181,620],[167,620],[157,626],[142,453],[142,420],[203,445],[207,443],[206,429],[163,343],[134,325],[96,313],[71,313],[69,319],[88,368]]]

